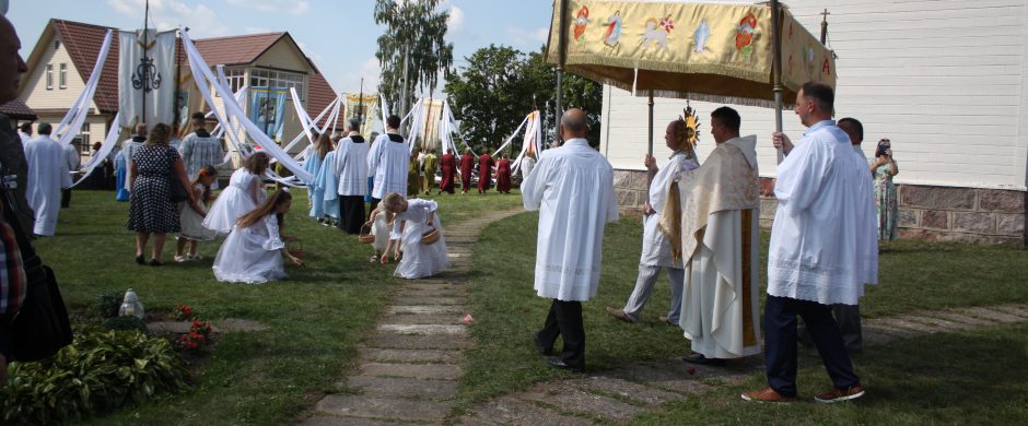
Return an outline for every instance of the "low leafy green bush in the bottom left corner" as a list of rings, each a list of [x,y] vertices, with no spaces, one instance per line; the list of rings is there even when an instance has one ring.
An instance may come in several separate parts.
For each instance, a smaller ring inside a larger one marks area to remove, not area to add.
[[[167,340],[136,331],[84,331],[38,363],[11,363],[2,424],[54,424],[186,389],[188,370]]]

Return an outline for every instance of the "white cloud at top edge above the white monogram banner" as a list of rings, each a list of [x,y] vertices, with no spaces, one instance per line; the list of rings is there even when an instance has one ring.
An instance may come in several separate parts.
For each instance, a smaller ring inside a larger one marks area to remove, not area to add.
[[[147,2],[145,0],[107,0],[107,5],[129,17],[141,17]],[[213,10],[203,4],[190,5],[180,0],[155,0],[150,2],[150,16],[159,31],[174,29],[179,25],[185,25],[189,27],[189,35],[194,37],[229,35],[229,28],[222,20]]]

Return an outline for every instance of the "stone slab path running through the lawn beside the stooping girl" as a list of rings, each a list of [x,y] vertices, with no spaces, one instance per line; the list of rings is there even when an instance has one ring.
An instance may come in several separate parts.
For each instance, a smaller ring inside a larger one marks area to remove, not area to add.
[[[446,229],[452,267],[405,282],[359,347],[355,374],[315,405],[303,425],[441,424],[453,410],[467,326],[472,246],[486,225],[524,210],[491,212]]]

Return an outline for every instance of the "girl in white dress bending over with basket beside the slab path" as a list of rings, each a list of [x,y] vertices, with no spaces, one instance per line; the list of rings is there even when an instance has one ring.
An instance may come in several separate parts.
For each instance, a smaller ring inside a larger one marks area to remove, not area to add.
[[[393,224],[394,236],[401,233],[399,244],[402,257],[396,265],[396,276],[408,280],[432,276],[449,267],[446,257],[446,238],[443,236],[443,224],[435,214],[439,205],[435,201],[411,199],[390,192],[382,200],[386,211],[396,215]],[[439,230],[439,241],[421,244],[421,237],[431,232]],[[390,240],[393,246],[396,241]],[[386,249],[388,251],[388,248]],[[383,256],[385,259],[385,256]]]

